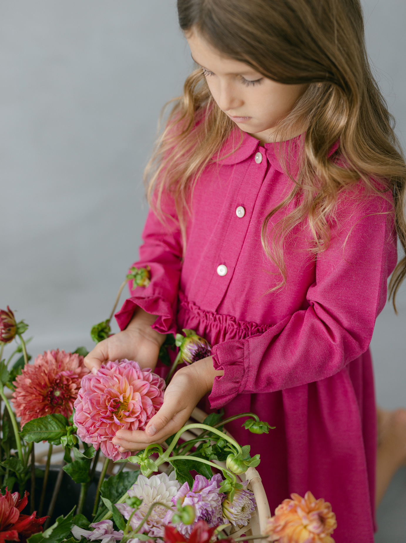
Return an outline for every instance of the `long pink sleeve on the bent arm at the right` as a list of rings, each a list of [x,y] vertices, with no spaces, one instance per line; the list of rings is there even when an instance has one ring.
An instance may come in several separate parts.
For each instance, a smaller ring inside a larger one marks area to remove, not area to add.
[[[237,394],[275,392],[322,380],[367,350],[397,260],[389,200],[377,195],[361,201],[354,194],[341,197],[331,243],[317,257],[308,307],[263,334],[213,347],[214,368],[223,369],[224,376],[215,378],[212,408]]]

